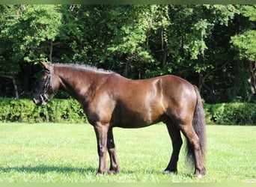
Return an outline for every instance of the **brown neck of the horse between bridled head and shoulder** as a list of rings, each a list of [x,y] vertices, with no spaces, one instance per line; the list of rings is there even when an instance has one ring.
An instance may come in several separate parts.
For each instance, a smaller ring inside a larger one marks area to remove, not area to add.
[[[92,85],[97,85],[90,71],[71,67],[55,67],[55,74],[60,79],[60,89],[69,93],[79,102],[84,102],[94,91]]]

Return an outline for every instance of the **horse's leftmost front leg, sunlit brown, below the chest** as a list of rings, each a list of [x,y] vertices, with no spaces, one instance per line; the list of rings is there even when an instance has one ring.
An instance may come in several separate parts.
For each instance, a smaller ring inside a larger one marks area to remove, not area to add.
[[[99,169],[98,174],[110,174],[109,169],[106,165],[106,144],[107,144],[107,136],[108,136],[109,124],[103,124],[100,122],[95,123],[94,131],[96,133],[97,138],[97,150],[99,156]]]

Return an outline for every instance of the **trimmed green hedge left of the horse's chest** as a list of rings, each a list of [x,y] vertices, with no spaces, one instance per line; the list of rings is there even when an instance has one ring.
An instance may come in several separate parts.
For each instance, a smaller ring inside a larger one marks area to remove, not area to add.
[[[52,99],[47,105],[34,105],[31,99],[0,98],[0,121],[38,122],[86,122],[79,102],[74,99]]]

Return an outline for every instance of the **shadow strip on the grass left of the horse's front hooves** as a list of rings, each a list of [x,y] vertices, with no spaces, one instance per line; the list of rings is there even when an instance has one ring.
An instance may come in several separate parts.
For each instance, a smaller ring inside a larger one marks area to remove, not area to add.
[[[61,173],[95,173],[97,172],[97,168],[72,168],[72,167],[60,167],[60,166],[49,166],[49,165],[38,165],[34,167],[30,166],[20,166],[20,167],[7,167],[1,168],[0,171],[4,173],[9,173],[12,171],[16,172],[26,172],[26,173],[40,173],[45,174],[47,172],[61,172]]]

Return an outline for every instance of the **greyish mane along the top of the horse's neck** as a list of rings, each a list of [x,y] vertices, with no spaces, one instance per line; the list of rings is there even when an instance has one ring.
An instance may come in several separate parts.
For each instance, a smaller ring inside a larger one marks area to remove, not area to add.
[[[87,64],[53,64],[56,67],[70,67],[71,69],[75,69],[75,70],[85,70],[85,71],[90,71],[90,72],[94,72],[94,73],[109,73],[109,74],[117,74],[111,70],[103,70],[101,68],[97,68],[97,67],[93,67]]]

